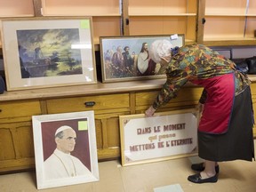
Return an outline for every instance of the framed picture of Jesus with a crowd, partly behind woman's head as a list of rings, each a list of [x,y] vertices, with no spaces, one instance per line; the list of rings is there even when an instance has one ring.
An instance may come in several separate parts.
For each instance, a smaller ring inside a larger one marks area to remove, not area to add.
[[[150,59],[148,50],[157,39],[183,46],[185,35],[100,36],[101,76],[103,83],[164,78],[166,66]],[[143,52],[146,50],[145,52]]]

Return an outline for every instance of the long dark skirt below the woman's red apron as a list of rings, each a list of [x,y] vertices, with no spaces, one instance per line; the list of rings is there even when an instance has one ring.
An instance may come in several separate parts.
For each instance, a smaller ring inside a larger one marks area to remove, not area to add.
[[[252,95],[248,87],[235,97],[228,132],[223,134],[197,132],[198,156],[215,162],[237,159],[252,161],[254,158],[252,126]]]

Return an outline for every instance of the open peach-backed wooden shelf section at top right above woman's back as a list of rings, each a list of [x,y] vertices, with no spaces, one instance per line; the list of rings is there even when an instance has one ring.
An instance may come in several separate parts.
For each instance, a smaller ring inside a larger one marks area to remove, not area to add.
[[[204,4],[204,5],[203,5]],[[256,44],[256,3],[253,0],[203,0],[198,22],[204,22],[206,45]],[[202,37],[202,36],[201,36]],[[202,39],[200,39],[202,40]]]

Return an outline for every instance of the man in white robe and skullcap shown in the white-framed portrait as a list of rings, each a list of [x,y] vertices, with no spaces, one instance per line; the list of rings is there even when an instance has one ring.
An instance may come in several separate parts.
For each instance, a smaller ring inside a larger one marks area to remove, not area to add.
[[[45,180],[76,177],[91,172],[76,156],[70,152],[76,145],[76,132],[70,126],[61,126],[55,132],[57,148],[44,161]]]

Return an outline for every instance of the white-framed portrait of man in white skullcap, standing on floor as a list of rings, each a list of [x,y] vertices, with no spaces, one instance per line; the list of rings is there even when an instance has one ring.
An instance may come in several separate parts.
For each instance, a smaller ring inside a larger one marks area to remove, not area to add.
[[[37,189],[100,180],[94,112],[32,116]]]

